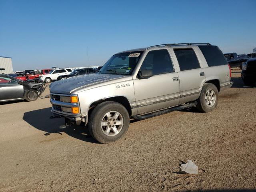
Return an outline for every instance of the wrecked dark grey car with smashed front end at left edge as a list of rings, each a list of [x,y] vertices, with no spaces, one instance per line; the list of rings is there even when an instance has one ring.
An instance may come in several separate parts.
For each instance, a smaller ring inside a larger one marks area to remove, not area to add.
[[[44,92],[45,88],[46,86],[41,80],[22,81],[0,74],[0,102],[14,100],[35,101]]]

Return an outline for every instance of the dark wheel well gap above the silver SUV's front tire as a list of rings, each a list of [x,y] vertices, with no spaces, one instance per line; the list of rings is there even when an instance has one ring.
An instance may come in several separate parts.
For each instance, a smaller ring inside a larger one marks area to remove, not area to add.
[[[128,99],[124,96],[116,96],[116,97],[111,97],[111,98],[106,98],[106,99],[100,99],[98,101],[95,101],[93,102],[91,105],[90,105],[90,108],[89,108],[89,112],[90,113],[98,104],[102,103],[102,102],[105,102],[105,101],[114,101],[114,102],[118,102],[120,104],[122,104],[126,110],[128,111],[129,115],[131,116],[132,115],[132,108],[130,106],[130,102],[128,101]]]

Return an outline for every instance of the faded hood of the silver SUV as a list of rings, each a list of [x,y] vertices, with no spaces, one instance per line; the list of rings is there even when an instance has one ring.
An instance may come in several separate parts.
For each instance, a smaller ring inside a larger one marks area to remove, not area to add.
[[[51,93],[70,94],[78,88],[85,88],[91,85],[108,82],[110,80],[124,78],[127,76],[115,74],[88,74],[82,76],[75,76],[69,79],[53,82],[50,85]]]

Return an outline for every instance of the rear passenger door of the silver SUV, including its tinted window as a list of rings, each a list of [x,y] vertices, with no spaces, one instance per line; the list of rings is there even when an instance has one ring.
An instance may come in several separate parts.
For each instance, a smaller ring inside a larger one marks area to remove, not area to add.
[[[201,68],[193,48],[172,48],[180,68],[180,103],[195,100],[200,96],[205,82],[204,69]]]

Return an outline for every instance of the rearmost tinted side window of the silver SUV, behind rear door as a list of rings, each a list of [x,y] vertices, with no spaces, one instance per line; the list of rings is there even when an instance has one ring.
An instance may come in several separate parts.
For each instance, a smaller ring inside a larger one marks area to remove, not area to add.
[[[198,47],[202,51],[202,54],[204,55],[204,58],[209,67],[228,64],[228,61],[226,60],[228,55],[224,56],[224,54],[217,46],[199,45]]]

